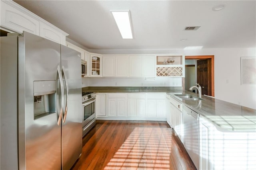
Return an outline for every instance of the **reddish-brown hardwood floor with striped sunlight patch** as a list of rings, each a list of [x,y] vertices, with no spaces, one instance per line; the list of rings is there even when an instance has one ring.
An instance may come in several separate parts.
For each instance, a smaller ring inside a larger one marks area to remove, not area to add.
[[[165,121],[96,121],[72,170],[196,170]]]

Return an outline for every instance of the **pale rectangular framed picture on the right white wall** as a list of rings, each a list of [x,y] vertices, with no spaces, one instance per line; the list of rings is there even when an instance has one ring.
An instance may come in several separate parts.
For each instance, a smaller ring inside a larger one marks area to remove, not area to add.
[[[256,84],[256,57],[241,57],[241,84]]]

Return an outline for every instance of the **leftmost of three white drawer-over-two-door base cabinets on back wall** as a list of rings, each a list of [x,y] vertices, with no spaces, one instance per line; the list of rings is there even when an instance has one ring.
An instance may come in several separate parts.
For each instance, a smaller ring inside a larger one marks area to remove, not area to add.
[[[126,117],[127,116],[127,97],[125,93],[108,94],[108,116]]]

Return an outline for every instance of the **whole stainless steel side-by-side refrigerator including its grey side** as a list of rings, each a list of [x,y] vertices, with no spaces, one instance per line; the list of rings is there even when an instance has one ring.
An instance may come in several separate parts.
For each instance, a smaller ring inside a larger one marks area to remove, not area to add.
[[[80,53],[27,32],[0,40],[0,169],[69,170],[82,152]]]

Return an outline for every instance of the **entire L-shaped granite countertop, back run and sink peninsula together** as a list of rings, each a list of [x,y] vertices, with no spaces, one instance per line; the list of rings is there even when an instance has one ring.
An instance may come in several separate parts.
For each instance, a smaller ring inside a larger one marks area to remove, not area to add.
[[[220,131],[256,132],[256,110],[223,100],[202,96],[204,100],[185,100],[175,94],[197,94],[180,87],[86,87],[83,92],[100,93],[167,93],[196,111]]]

